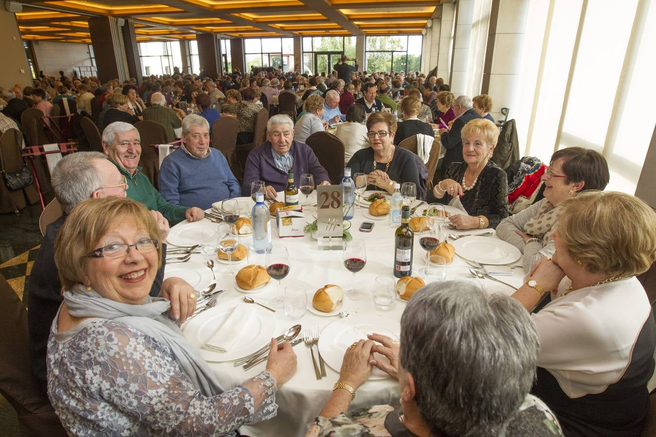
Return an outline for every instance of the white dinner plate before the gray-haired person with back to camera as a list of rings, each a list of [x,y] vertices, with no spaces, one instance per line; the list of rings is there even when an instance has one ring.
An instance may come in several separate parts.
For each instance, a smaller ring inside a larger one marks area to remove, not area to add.
[[[339,371],[342,368],[342,360],[346,349],[356,341],[366,340],[367,334],[374,332],[387,335],[398,341],[401,335],[401,324],[398,320],[392,320],[377,313],[340,318],[321,331],[319,352],[321,352],[321,356],[328,366],[335,371]],[[374,354],[374,357],[377,360],[387,360],[380,354]],[[369,379],[385,379],[388,377],[390,375],[384,371],[374,368]]]

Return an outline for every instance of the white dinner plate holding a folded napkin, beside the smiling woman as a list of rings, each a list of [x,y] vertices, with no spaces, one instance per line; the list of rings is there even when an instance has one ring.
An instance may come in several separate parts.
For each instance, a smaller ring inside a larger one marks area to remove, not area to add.
[[[232,313],[234,306],[240,302],[241,297],[219,301],[215,308],[203,311],[203,313],[198,314],[184,325],[182,330],[184,337],[198,350],[206,361],[223,362],[236,360],[241,356],[254,352],[271,340],[272,333],[276,331],[276,316],[271,311],[253,305],[256,307],[256,316],[251,318],[251,324],[249,326],[243,327],[239,341],[237,341],[237,344],[229,352],[220,353],[200,349],[203,344],[207,343],[208,337],[215,332],[216,326],[225,320]],[[248,303],[242,304],[250,305]]]

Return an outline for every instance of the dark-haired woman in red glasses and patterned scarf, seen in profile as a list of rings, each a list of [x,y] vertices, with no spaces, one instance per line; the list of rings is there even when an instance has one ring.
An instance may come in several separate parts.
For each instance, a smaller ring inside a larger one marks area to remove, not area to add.
[[[535,261],[554,255],[551,235],[563,213],[560,203],[581,191],[603,190],[609,178],[608,164],[596,151],[583,147],[557,151],[541,178],[544,199],[503,219],[497,226],[497,237],[522,251],[524,270],[530,271]]]

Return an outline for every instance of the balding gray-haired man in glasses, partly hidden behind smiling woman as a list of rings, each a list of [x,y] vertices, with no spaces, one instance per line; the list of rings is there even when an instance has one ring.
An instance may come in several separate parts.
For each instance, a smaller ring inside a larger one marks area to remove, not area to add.
[[[68,213],[85,199],[108,196],[125,197],[125,176],[98,152],[77,152],[67,155],[52,171],[52,189],[64,215],[50,223],[43,235],[41,247],[30,272],[28,284],[28,328],[30,330],[30,367],[41,387],[46,389],[46,347],[52,320],[62,303],[59,273],[54,263],[54,240]],[[169,234],[169,224],[157,211],[151,211],[157,221],[161,239]],[[184,322],[195,309],[195,300],[189,299],[194,289],[180,278],[163,280],[166,245],[162,245],[162,264],[155,276],[150,295],[172,301],[171,316]]]

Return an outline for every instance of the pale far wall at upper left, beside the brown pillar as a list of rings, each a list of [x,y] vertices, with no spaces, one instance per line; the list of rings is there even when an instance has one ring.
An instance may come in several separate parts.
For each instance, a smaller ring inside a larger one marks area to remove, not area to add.
[[[91,66],[89,47],[81,43],[35,41],[34,56],[39,69],[48,76],[59,76],[59,71],[64,70],[64,75],[72,77],[73,67]]]

